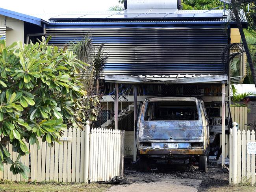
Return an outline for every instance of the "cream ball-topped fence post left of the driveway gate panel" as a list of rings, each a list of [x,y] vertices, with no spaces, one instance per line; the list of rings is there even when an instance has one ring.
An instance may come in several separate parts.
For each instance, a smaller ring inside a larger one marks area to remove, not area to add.
[[[89,121],[85,122],[85,141],[84,141],[84,170],[83,170],[83,182],[88,183],[89,176],[89,139],[90,139],[90,126]]]

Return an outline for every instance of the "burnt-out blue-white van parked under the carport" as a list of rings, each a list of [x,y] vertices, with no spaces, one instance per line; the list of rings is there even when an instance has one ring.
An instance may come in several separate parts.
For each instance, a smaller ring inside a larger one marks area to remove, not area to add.
[[[189,159],[199,161],[206,171],[209,120],[204,102],[193,97],[149,98],[138,114],[136,144],[140,167],[151,159]]]

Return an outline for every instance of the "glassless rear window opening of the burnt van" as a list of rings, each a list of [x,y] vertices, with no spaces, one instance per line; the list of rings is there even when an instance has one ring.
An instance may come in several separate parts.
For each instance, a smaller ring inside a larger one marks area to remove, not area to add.
[[[144,120],[198,120],[197,104],[193,101],[148,102]]]

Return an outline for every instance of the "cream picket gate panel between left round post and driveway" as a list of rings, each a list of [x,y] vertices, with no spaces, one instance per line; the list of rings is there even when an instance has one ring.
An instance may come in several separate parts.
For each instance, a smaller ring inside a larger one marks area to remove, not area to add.
[[[92,129],[89,180],[109,181],[124,174],[124,131]]]

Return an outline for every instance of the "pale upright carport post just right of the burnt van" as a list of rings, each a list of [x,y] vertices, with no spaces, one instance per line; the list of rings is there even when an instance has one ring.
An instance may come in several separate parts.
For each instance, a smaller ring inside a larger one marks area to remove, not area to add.
[[[225,166],[225,95],[226,95],[226,84],[222,82],[222,129],[221,129],[221,166]]]

